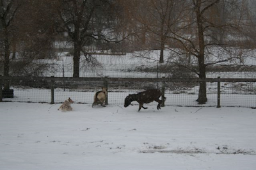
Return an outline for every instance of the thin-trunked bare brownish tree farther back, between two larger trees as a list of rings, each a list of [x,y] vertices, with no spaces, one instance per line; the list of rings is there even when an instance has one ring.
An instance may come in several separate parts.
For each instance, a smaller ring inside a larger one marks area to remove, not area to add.
[[[157,43],[157,49],[160,49],[159,63],[163,63],[168,36],[173,27],[179,24],[179,19],[182,18],[180,8],[184,1],[133,0],[126,3],[125,6],[131,11],[132,19],[138,27],[137,31],[141,33],[141,42],[143,44],[146,41]],[[153,48],[155,49],[155,47]]]

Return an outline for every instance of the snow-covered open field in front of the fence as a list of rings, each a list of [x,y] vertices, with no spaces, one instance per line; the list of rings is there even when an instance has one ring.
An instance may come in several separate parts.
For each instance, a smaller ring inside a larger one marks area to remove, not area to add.
[[[255,169],[256,110],[0,103],[0,169]]]

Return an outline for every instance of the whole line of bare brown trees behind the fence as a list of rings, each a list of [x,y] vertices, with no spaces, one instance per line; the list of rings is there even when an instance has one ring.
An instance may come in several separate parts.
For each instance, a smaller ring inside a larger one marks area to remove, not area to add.
[[[33,59],[54,58],[54,42],[67,41],[73,77],[79,77],[82,55],[93,62],[86,50],[93,46],[157,49],[159,63],[182,65],[205,79],[207,66],[241,59],[242,49],[255,48],[253,6],[250,0],[0,0],[3,73],[10,75],[16,55],[24,59],[22,65],[31,65]],[[173,55],[164,58],[165,49]],[[189,64],[175,61],[177,56]],[[207,102],[205,82],[200,82],[198,102]]]

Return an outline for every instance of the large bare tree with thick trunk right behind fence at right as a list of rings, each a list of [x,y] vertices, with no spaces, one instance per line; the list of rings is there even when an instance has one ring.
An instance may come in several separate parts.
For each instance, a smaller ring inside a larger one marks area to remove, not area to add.
[[[225,10],[225,14],[220,14]],[[182,24],[172,29],[168,36],[179,48],[171,50],[178,55],[195,56],[198,64],[195,72],[200,79],[205,79],[207,66],[238,58],[235,51],[239,50],[230,47],[241,47],[239,45],[246,38],[246,1],[188,0],[182,11],[187,17],[183,17]],[[200,82],[197,101],[199,104],[207,102],[204,81]]]

